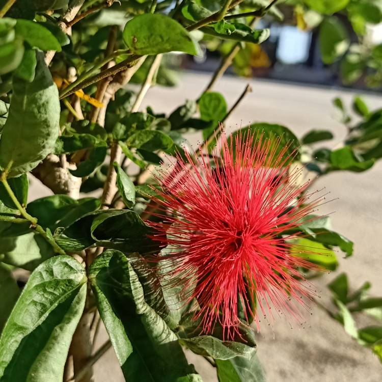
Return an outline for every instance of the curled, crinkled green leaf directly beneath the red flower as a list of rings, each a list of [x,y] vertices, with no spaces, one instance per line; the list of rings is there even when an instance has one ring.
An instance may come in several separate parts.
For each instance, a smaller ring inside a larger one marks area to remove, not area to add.
[[[256,353],[256,346],[251,347],[234,341],[222,341],[212,336],[183,338],[179,342],[187,346],[195,354],[203,357],[212,357],[215,360],[229,360],[237,356],[250,360],[253,354]]]

